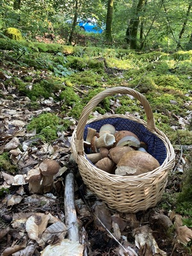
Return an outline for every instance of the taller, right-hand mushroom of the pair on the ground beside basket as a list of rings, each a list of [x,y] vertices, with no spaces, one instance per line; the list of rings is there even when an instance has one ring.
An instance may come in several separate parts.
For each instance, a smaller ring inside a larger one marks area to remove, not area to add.
[[[40,163],[40,172],[43,176],[43,189],[44,193],[48,193],[52,189],[53,176],[59,172],[60,164],[58,164],[55,160],[45,159]]]

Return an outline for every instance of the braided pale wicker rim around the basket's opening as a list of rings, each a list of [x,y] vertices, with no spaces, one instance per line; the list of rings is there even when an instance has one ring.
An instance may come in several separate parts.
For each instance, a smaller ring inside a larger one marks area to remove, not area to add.
[[[113,115],[100,115],[95,118],[89,119],[86,124],[91,124],[92,122],[96,122],[102,119],[106,118],[125,118],[129,119],[135,122],[138,122],[142,125],[144,125],[147,128],[147,122],[145,120],[141,120],[140,118],[137,118],[135,116],[130,116],[130,115],[118,115],[118,114],[113,114]],[[79,161],[84,161],[84,164],[88,166],[88,168],[92,168],[92,172],[97,175],[98,179],[108,179],[109,181],[113,180],[113,182],[125,182],[125,181],[132,181],[133,179],[135,181],[141,181],[146,180],[151,182],[151,179],[156,179],[158,176],[160,177],[163,172],[168,172],[171,168],[173,168],[173,164],[175,163],[175,152],[173,149],[172,144],[170,143],[170,140],[162,132],[156,127],[155,131],[150,131],[152,134],[156,135],[159,139],[161,139],[164,143],[164,146],[166,147],[166,159],[164,159],[163,164],[161,166],[157,167],[156,169],[152,170],[151,172],[143,173],[140,175],[132,175],[132,176],[121,176],[121,175],[116,175],[116,174],[111,174],[104,172],[97,168],[93,163],[91,163],[87,158],[86,154],[83,150],[83,154],[77,154],[76,150],[76,143],[79,143],[79,141],[76,139],[76,129],[74,129],[74,132],[72,133],[72,140],[71,140],[71,149],[72,149],[72,154],[74,155],[77,164]],[[81,172],[81,170],[79,170]],[[115,179],[114,179],[115,178]]]

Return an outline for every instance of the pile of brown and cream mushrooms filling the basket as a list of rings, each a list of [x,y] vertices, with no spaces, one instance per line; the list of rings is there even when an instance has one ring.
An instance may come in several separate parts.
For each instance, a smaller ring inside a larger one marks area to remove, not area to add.
[[[99,132],[88,127],[84,148],[89,148],[86,157],[97,168],[116,175],[140,175],[160,166],[136,134],[116,131],[111,124],[102,125]]]

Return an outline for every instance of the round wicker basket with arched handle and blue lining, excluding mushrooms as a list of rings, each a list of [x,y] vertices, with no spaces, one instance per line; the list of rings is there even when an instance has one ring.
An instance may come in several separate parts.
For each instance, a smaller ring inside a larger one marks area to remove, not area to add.
[[[118,93],[132,95],[140,100],[147,115],[147,122],[127,115],[101,115],[88,120],[93,108],[101,100]],[[148,153],[156,157],[161,165],[152,172],[138,176],[113,175],[95,167],[86,158],[83,141],[86,138],[87,127],[99,131],[104,124],[113,124],[116,131],[134,132],[141,141],[147,143]],[[127,87],[109,88],[88,102],[72,134],[71,149],[84,184],[111,209],[120,212],[134,213],[154,207],[161,200],[168,173],[175,164],[173,147],[165,134],[156,128],[152,109],[147,99],[141,93]]]

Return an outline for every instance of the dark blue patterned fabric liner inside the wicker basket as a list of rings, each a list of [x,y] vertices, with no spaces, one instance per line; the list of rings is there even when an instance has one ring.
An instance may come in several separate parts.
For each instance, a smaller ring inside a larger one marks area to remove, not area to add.
[[[131,131],[138,136],[140,141],[147,144],[147,152],[159,161],[159,164],[163,164],[166,159],[166,147],[163,141],[154,135],[152,132],[148,131],[143,124],[138,124],[129,119],[125,118],[106,118],[103,120],[95,121],[87,124],[84,129],[84,140],[86,140],[87,127],[91,127],[97,132],[104,124],[111,124],[115,127],[116,131]],[[88,154],[88,152],[86,152]]]

